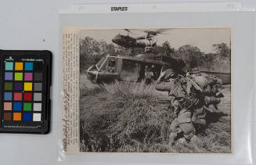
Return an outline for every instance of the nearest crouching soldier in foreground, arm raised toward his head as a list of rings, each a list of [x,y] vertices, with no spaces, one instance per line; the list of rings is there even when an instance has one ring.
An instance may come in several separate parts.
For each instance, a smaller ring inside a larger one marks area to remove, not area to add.
[[[171,122],[169,144],[173,145],[178,136],[183,136],[188,141],[197,139],[196,130],[191,120],[193,103],[187,99],[186,79],[182,75],[176,74],[175,70],[168,69],[160,74],[156,89],[168,91],[171,99],[171,109],[176,115],[175,120]]]

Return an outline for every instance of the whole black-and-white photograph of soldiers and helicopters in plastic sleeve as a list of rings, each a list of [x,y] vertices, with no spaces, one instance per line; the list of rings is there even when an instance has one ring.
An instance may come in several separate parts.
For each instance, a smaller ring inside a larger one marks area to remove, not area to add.
[[[232,27],[78,38],[80,152],[232,153]]]

